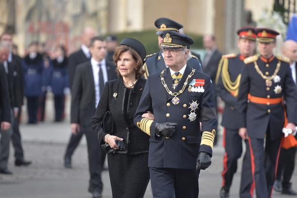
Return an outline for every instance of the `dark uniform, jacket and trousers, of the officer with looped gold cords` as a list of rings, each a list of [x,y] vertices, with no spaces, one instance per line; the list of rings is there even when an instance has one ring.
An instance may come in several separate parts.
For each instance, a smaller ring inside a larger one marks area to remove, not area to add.
[[[239,129],[237,126],[237,96],[235,91],[232,92],[230,87],[226,85],[226,82],[235,82],[239,79],[238,75],[240,75],[244,66],[243,59],[244,57],[242,55],[236,54],[223,56],[220,61],[221,64],[218,69],[220,73],[218,73],[216,82],[217,94],[225,102],[221,125],[224,127],[223,146],[225,148],[222,188],[224,188],[226,192],[229,192],[231,188],[233,176],[237,171],[237,161],[242,153],[242,141],[238,134]],[[245,140],[245,143],[246,152],[242,163],[240,198],[252,198],[253,195],[250,195],[250,189],[252,188],[253,178],[249,144],[247,140]]]

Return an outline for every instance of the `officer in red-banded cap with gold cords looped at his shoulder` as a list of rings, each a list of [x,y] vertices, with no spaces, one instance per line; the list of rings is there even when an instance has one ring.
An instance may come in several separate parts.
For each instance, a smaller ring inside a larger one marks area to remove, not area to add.
[[[238,133],[238,110],[236,100],[238,87],[241,78],[241,70],[244,66],[243,60],[252,56],[256,48],[256,32],[252,27],[243,27],[237,31],[239,54],[223,55],[218,66],[216,75],[218,96],[225,102],[221,125],[224,127],[223,146],[225,155],[223,160],[221,198],[229,198],[233,176],[237,171],[237,161],[242,153],[242,141],[246,143],[246,152],[243,158],[240,198],[252,198],[252,170],[250,152],[246,135],[240,136]]]

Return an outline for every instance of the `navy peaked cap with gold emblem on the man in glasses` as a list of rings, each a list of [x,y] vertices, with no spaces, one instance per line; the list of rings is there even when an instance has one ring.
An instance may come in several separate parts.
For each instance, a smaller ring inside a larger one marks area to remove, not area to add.
[[[190,45],[194,44],[192,38],[186,34],[181,34],[174,31],[164,31],[161,33],[163,43],[160,47],[163,48],[187,48],[190,49]]]

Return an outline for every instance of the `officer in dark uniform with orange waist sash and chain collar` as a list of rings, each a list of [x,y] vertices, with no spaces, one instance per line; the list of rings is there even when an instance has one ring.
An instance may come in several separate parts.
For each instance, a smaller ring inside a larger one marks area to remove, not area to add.
[[[256,33],[260,56],[244,60],[238,92],[238,127],[241,135],[248,135],[257,198],[270,198],[282,128],[294,132],[297,123],[297,89],[289,60],[273,55],[279,33],[265,28],[256,29]]]

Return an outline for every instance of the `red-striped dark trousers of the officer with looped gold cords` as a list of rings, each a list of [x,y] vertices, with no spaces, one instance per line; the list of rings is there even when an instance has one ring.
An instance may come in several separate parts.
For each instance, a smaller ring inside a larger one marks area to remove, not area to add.
[[[224,128],[223,146],[225,148],[225,156],[223,160],[222,188],[229,192],[234,174],[237,171],[238,159],[242,154],[242,139],[238,134],[238,130]],[[253,183],[250,159],[249,146],[247,144],[242,162],[240,198],[249,198],[250,196]]]

